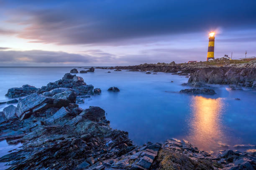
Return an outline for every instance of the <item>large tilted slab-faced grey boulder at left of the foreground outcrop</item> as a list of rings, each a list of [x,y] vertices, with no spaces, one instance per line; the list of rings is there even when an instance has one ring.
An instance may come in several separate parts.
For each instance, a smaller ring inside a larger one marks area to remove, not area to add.
[[[28,95],[27,97],[18,100],[16,114],[20,120],[26,119],[33,114],[33,109],[41,107],[41,105],[44,105],[45,103],[51,104],[53,103],[53,100],[54,99],[52,98],[33,93],[32,95]]]

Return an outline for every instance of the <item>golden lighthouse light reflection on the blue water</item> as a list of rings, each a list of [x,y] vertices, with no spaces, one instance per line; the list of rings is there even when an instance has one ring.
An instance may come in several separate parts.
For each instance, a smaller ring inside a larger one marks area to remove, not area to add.
[[[200,146],[202,150],[218,148],[218,143],[225,142],[221,115],[223,112],[221,98],[212,99],[202,96],[191,98],[192,117],[188,121],[190,125],[189,141]]]

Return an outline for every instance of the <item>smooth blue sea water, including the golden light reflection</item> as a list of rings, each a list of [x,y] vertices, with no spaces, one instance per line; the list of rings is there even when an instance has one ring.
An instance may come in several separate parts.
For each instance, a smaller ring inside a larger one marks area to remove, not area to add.
[[[11,87],[41,87],[61,79],[72,68],[77,67],[0,67],[0,102],[9,100],[5,93]],[[189,88],[181,85],[188,78],[161,72],[148,75],[95,69],[77,76],[102,90],[79,106],[102,107],[110,126],[127,131],[136,144],[177,138],[207,151],[256,145],[256,91],[213,85],[217,93],[213,96],[180,94],[179,90]],[[108,92],[112,86],[120,92]],[[0,111],[6,106],[0,105]]]

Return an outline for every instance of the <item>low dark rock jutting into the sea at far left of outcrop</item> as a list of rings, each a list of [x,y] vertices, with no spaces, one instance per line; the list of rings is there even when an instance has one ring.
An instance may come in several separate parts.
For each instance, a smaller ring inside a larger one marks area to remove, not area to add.
[[[10,88],[5,96],[10,98],[22,97],[37,92],[38,88],[31,85],[23,85],[22,87]]]

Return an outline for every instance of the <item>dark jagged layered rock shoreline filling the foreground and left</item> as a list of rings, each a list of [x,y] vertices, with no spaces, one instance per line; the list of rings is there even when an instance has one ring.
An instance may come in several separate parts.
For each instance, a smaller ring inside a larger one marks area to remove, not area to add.
[[[110,87],[118,91],[115,88]],[[70,73],[40,89],[30,85],[9,89],[10,98],[26,97],[18,100],[17,107],[9,105],[0,112],[0,140],[23,145],[0,162],[10,165],[9,170],[256,169],[256,150],[225,150],[215,156],[177,139],[135,145],[127,132],[110,128],[100,107],[82,109],[76,104],[100,93]]]

